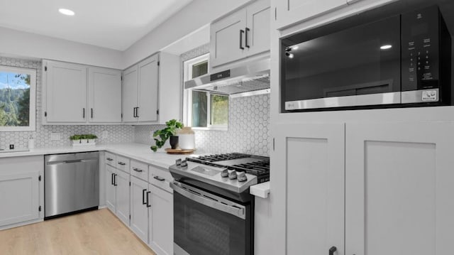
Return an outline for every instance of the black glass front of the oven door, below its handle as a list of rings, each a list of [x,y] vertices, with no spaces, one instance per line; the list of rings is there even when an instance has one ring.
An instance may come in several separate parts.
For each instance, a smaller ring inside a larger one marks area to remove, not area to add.
[[[215,210],[174,192],[174,242],[189,254],[250,254],[248,228],[250,219]]]

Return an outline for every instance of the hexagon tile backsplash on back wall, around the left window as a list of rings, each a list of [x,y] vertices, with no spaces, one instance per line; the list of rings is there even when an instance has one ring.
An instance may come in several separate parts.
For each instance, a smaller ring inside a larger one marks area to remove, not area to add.
[[[42,109],[41,61],[0,57],[0,65],[33,68],[38,71],[36,77],[36,112],[40,113]],[[108,132],[108,136],[106,138],[102,137],[102,131]],[[52,133],[59,133],[60,140],[51,141],[50,136]],[[50,146],[70,146],[71,143],[69,138],[73,134],[96,134],[96,136],[99,137],[99,139],[96,140],[96,143],[128,143],[134,140],[134,127],[126,125],[43,126],[41,125],[41,116],[40,114],[37,114],[36,131],[0,131],[0,148],[7,148],[11,143],[14,144],[15,148],[27,148],[28,138],[31,136],[35,139],[36,148]]]

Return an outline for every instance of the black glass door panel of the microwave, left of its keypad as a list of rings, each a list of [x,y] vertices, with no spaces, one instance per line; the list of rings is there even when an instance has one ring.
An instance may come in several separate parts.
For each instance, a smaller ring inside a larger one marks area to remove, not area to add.
[[[283,101],[398,92],[399,34],[394,16],[314,38],[283,39]]]

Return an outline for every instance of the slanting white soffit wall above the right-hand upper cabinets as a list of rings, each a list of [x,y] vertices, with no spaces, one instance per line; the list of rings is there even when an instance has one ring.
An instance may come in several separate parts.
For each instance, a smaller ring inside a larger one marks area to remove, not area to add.
[[[243,6],[250,0],[194,0],[123,52],[124,67],[152,55],[167,45]]]

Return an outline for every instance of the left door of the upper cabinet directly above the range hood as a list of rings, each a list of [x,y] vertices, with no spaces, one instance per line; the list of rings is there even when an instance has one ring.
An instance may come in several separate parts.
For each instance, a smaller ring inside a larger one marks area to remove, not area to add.
[[[210,65],[215,67],[244,58],[246,10],[242,9],[210,26]]]

